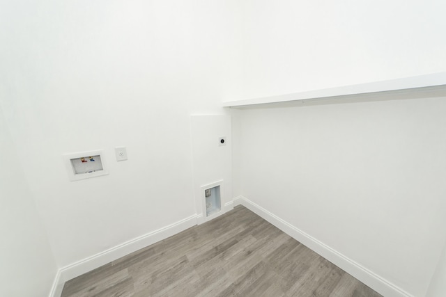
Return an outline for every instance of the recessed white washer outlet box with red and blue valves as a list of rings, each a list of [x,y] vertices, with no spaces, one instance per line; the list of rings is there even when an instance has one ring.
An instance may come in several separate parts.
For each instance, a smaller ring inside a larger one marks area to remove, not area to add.
[[[109,173],[105,169],[102,150],[64,154],[63,157],[67,166],[68,175],[72,181],[98,177]]]

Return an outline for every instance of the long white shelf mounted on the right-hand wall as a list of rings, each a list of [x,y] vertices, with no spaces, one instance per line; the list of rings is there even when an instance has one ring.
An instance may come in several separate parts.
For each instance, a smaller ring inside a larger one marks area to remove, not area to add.
[[[302,102],[303,100],[314,99],[340,99],[353,96],[355,99],[360,100],[364,97],[368,97],[369,95],[376,95],[377,93],[401,94],[413,91],[431,92],[438,90],[442,91],[446,95],[446,72],[420,75],[417,77],[406,77],[403,79],[361,83],[337,88],[311,90],[301,93],[234,100],[223,102],[223,106],[251,106],[256,104],[271,104],[279,102]]]

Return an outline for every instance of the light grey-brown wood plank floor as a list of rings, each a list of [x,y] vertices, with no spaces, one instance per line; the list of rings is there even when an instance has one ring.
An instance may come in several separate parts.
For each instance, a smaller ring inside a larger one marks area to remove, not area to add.
[[[66,282],[80,296],[380,295],[238,206]]]

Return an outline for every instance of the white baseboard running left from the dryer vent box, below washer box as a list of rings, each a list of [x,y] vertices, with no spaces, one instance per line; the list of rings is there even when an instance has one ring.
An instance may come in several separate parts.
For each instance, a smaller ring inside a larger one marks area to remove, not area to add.
[[[110,248],[109,250],[105,250],[104,252],[100,252],[86,259],[82,259],[79,262],[75,262],[63,268],[60,268],[56,274],[56,278],[54,280],[54,284],[49,297],[60,297],[62,294],[63,284],[65,284],[66,281],[71,280],[72,278],[76,278],[79,275],[82,275],[95,268],[119,259],[125,255],[130,254],[131,252],[135,252],[137,250],[140,250],[141,248],[150,246],[153,243],[162,241],[163,239],[167,239],[167,237],[182,232],[187,228],[193,227],[194,225],[197,225],[196,215],[180,220],[159,230],[155,230],[148,234],[139,236],[135,239],[115,246],[114,248]]]

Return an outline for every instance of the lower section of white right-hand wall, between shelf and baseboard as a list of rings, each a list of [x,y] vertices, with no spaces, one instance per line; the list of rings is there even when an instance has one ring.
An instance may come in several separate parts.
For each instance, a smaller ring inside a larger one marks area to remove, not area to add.
[[[245,109],[241,194],[413,296],[445,242],[446,98]]]

